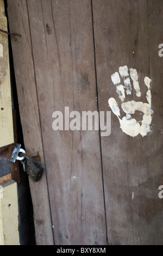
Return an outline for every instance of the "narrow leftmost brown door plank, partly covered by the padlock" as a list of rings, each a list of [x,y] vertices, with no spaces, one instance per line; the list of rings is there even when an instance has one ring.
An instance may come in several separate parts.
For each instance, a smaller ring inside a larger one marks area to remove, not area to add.
[[[26,1],[8,1],[10,32],[21,34],[11,38],[14,69],[26,151],[38,155],[44,165],[39,106],[34,74],[33,50],[30,39],[28,9]],[[51,211],[49,208],[46,172],[41,181],[30,181],[32,193],[35,235],[37,245],[53,245]]]

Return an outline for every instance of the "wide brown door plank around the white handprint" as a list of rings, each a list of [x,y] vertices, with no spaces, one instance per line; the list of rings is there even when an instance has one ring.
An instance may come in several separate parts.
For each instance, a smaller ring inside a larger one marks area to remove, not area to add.
[[[99,111],[111,110],[110,97],[121,107],[116,86],[111,81],[111,75],[118,72],[120,66],[137,70],[139,101],[148,103],[143,80],[146,76],[152,79],[152,133],[130,137],[122,132],[120,121],[111,113],[111,135],[102,138],[108,242],[114,245],[155,245],[163,241],[162,202],[158,197],[162,182],[162,136],[157,125],[162,121],[156,113],[157,97],[160,99],[162,94],[162,64],[159,60],[160,65],[154,68],[158,53],[153,51],[158,48],[159,35],[155,31],[159,29],[162,34],[162,2],[157,2],[153,6],[152,1],[92,1]],[[152,12],[150,22],[147,3]],[[126,101],[130,97],[138,101],[134,90],[126,96]],[[138,117],[136,113],[134,118]]]

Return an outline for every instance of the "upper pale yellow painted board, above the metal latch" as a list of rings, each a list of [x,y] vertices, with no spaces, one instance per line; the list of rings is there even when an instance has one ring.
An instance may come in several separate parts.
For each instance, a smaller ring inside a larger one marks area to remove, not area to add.
[[[0,24],[1,29],[7,31],[3,0],[0,1]],[[8,35],[0,32],[0,148],[13,142]]]

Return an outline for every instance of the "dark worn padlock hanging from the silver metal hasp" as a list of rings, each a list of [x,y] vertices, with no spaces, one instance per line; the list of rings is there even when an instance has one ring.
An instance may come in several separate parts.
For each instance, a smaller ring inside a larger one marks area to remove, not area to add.
[[[35,182],[39,181],[42,177],[43,168],[32,157],[27,154],[21,153],[25,157],[23,161],[24,172],[26,172]]]

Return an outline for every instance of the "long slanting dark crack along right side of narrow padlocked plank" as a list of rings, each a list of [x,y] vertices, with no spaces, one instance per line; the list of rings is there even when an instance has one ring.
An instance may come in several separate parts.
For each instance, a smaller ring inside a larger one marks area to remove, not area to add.
[[[48,187],[47,172],[46,172],[46,162],[45,162],[45,154],[44,154],[44,148],[43,148],[43,136],[42,136],[42,129],[41,129],[41,115],[40,115],[40,109],[39,109],[39,97],[38,97],[37,83],[36,83],[36,72],[35,72],[35,63],[34,63],[34,54],[33,54],[32,34],[31,34],[31,29],[30,29],[29,11],[28,11],[27,0],[26,0],[26,6],[27,6],[29,33],[30,33],[30,42],[31,42],[31,54],[32,54],[32,60],[33,60],[33,66],[34,66],[34,76],[35,76],[36,96],[37,96],[37,104],[38,104],[38,112],[39,112],[39,120],[40,120],[40,131],[41,131],[43,159],[44,159],[44,164],[45,164],[45,174],[46,174],[46,184],[47,184],[47,192],[48,192],[49,211],[50,211],[50,215],[51,215],[51,228],[52,228],[52,234],[53,234],[53,243],[55,245],[54,233],[53,233],[53,223],[52,223],[52,212],[51,212],[50,197],[49,197],[49,187]]]

